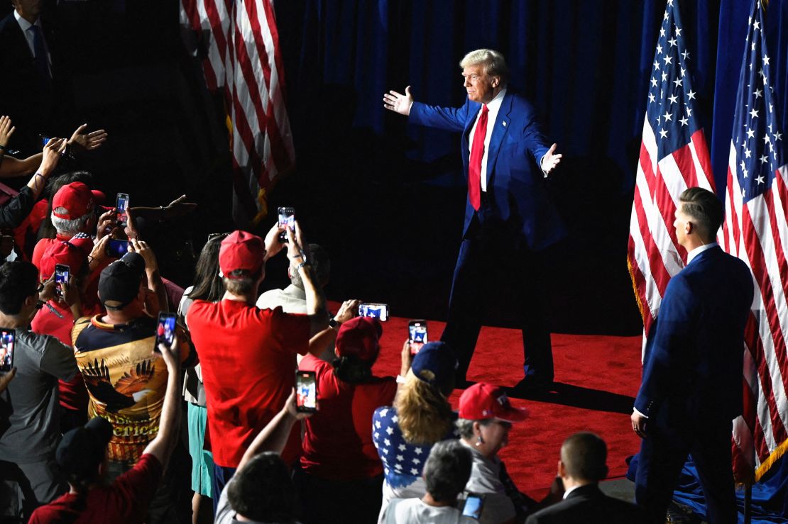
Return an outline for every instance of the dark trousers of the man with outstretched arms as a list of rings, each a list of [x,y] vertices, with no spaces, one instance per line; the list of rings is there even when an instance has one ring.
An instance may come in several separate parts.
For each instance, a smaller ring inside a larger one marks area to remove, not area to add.
[[[504,294],[522,329],[523,371],[552,381],[552,347],[545,320],[544,271],[525,238],[500,221],[485,220],[485,204],[459,246],[449,297],[448,321],[440,340],[459,360],[457,379],[465,380],[488,304]],[[481,217],[481,218],[480,218]]]

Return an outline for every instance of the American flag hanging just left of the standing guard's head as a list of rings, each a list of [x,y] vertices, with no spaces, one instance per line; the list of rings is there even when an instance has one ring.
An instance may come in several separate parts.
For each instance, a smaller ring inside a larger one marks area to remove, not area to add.
[[[669,0],[649,78],[627,253],[644,335],[660,310],[667,282],[686,262],[673,227],[678,195],[693,186],[714,190],[691,65],[678,0]]]

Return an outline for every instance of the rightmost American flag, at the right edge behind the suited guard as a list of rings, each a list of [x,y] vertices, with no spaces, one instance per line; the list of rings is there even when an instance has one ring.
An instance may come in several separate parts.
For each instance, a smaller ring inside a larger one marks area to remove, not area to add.
[[[753,271],[745,330],[744,413],[734,421],[734,473],[755,480],[788,448],[788,168],[771,88],[764,8],[750,10],[731,134],[723,249]],[[720,282],[723,283],[723,282]]]

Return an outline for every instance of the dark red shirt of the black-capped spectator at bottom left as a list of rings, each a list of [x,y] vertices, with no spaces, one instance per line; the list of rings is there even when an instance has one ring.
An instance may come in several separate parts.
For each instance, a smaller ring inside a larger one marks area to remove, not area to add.
[[[28,524],[144,522],[161,478],[162,463],[146,453],[111,485],[92,488],[85,496],[66,493],[33,511]]]

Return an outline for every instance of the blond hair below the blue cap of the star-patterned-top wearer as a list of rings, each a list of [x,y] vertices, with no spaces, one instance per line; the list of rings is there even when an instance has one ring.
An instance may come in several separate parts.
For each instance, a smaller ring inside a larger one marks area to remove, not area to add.
[[[440,389],[407,372],[394,399],[402,436],[410,444],[434,444],[452,429],[452,404]]]

